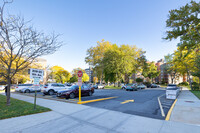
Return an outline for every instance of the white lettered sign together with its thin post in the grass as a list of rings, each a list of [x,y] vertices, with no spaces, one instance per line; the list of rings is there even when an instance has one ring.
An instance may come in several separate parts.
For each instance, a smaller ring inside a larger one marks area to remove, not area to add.
[[[40,69],[31,68],[30,79],[33,79],[33,86],[35,88],[35,97],[34,97],[34,109],[36,109],[36,97],[37,97],[37,87],[40,87],[40,80],[43,80],[44,71]]]

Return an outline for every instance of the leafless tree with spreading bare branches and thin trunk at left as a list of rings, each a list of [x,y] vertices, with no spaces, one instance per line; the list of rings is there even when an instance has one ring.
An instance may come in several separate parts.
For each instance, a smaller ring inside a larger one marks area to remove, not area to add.
[[[5,6],[11,2],[4,1],[0,7],[0,64],[1,75],[7,80],[7,105],[10,105],[10,85],[16,73],[27,68],[36,58],[53,54],[62,43],[59,35],[45,35],[38,32],[24,18],[4,15]]]

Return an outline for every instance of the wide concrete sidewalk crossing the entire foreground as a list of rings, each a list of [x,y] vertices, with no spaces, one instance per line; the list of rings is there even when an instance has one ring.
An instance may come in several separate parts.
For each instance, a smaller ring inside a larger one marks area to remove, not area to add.
[[[12,94],[33,103],[33,97]],[[106,109],[37,99],[53,111],[0,120],[0,133],[199,133],[200,126],[151,119]]]

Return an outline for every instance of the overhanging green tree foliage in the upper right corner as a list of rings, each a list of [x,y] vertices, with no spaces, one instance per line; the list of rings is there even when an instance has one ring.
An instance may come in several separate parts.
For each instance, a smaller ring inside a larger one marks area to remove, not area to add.
[[[200,43],[200,2],[191,1],[189,4],[169,11],[166,27],[167,40],[180,37],[180,48],[187,47],[188,52]]]

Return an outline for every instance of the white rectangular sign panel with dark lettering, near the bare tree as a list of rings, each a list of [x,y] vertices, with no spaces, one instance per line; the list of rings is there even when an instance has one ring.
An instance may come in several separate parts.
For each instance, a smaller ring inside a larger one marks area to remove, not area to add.
[[[30,69],[30,79],[39,78],[39,80],[43,80],[44,71],[40,69]]]

